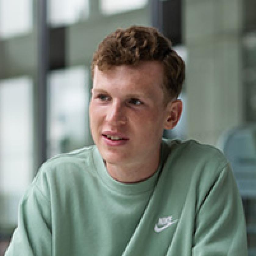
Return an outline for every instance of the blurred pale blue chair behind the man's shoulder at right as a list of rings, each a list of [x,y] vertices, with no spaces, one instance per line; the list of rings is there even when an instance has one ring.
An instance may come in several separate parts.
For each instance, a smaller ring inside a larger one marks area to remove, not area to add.
[[[256,125],[233,128],[222,134],[217,147],[233,169],[245,218],[249,256],[256,255]]]

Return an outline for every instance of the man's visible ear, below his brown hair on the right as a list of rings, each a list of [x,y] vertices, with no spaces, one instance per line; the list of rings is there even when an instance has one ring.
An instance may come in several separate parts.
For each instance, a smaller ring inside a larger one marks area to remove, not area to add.
[[[180,120],[180,116],[182,113],[182,101],[174,100],[167,104],[166,106],[166,119],[165,126],[166,130],[170,130],[176,126],[176,124]]]

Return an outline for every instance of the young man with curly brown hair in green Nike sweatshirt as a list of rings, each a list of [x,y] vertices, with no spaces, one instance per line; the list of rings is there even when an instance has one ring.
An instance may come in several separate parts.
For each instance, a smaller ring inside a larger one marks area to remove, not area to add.
[[[150,27],[116,30],[92,62],[96,146],[42,165],[10,255],[247,255],[244,213],[223,155],[162,140],[179,121],[184,63]]]

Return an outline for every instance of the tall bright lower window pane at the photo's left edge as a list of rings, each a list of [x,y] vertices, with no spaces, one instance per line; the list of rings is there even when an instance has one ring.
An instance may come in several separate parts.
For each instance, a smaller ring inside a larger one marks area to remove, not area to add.
[[[0,81],[0,226],[16,223],[33,178],[33,99],[28,77]]]

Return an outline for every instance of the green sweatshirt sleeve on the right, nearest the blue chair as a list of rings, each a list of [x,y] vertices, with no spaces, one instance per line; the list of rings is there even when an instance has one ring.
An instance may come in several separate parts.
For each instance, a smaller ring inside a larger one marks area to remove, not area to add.
[[[194,256],[246,256],[244,211],[228,164],[208,188],[195,216]]]

